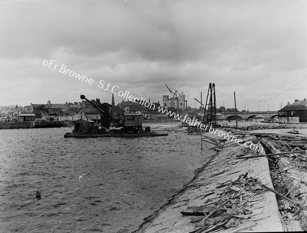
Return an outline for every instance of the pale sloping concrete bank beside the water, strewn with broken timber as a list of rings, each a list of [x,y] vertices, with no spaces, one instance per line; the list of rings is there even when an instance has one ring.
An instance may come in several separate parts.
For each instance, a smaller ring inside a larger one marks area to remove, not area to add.
[[[238,130],[227,131],[243,142],[261,146],[255,136]],[[221,138],[209,132],[203,135],[213,143]],[[301,230],[297,221],[287,224],[282,220],[275,194],[260,186],[274,189],[266,157],[238,159],[256,152],[233,142],[225,142],[216,149],[219,152],[196,171],[186,187],[146,217],[134,232]]]

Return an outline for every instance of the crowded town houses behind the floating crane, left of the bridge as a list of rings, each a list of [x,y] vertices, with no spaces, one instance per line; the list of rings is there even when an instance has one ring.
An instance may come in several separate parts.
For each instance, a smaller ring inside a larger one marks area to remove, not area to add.
[[[94,100],[93,100],[94,101]],[[140,113],[143,120],[168,120],[174,118],[174,115],[187,114],[190,119],[196,117],[195,110],[177,109],[169,107],[168,111],[174,114],[163,114],[159,112],[160,102],[154,102],[155,108],[151,109],[139,102],[122,101],[115,105],[114,97],[112,97],[112,104],[100,103],[96,99],[95,104],[108,112],[114,119],[120,120],[124,113]],[[150,102],[150,100],[149,100]],[[151,105],[152,106],[152,105]],[[9,106],[0,108],[0,120],[2,121],[76,121],[81,118],[92,120],[100,120],[101,113],[96,108],[93,108],[87,101],[52,104],[50,101],[47,104],[30,104],[29,106]]]

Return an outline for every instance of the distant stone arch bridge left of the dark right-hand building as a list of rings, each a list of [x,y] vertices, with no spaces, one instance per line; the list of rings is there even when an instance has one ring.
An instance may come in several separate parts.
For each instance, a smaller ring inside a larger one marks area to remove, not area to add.
[[[222,119],[233,119],[235,120],[235,112],[220,112],[222,114]],[[249,112],[237,112],[237,118],[243,120],[249,120],[256,116],[262,116],[266,119],[273,119],[278,116],[278,111],[249,111]],[[219,118],[219,117],[217,117]]]

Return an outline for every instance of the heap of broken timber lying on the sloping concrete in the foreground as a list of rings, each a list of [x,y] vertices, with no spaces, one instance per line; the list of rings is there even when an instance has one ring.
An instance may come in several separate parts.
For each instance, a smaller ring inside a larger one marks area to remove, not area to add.
[[[228,180],[215,188],[216,198],[211,199],[210,195],[215,192],[210,192],[205,195],[208,198],[202,206],[189,206],[187,211],[181,212],[183,216],[197,216],[190,221],[200,228],[190,233],[211,232],[218,228],[230,227],[233,228],[232,231],[244,230],[236,226],[246,221],[259,220],[252,218],[258,215],[253,214],[256,209],[254,205],[261,201],[261,198],[253,197],[263,192],[257,179],[248,177],[246,173],[239,175],[235,181]]]

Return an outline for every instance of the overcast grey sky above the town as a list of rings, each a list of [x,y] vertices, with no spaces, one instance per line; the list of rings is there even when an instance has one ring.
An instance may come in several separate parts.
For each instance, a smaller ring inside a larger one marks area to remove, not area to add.
[[[235,91],[239,110],[278,110],[307,98],[306,12],[300,0],[0,1],[0,105],[111,103],[115,85],[162,102],[166,83],[194,107],[211,82],[218,107]]]

